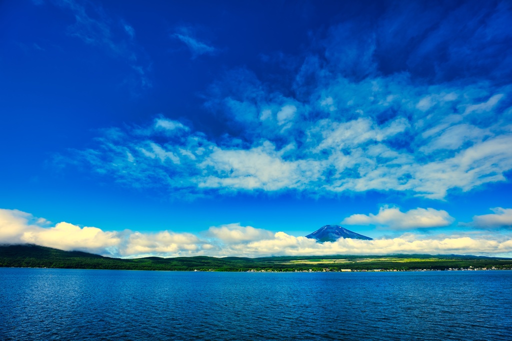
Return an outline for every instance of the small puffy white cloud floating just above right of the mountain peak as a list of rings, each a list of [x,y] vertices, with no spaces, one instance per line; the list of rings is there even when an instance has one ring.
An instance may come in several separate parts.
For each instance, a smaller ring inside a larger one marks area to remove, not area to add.
[[[401,212],[398,208],[383,206],[379,213],[369,215],[353,214],[345,218],[342,224],[347,225],[378,225],[391,230],[411,230],[422,228],[439,228],[454,222],[448,212],[432,208],[417,208]]]

